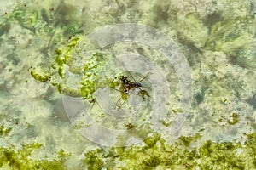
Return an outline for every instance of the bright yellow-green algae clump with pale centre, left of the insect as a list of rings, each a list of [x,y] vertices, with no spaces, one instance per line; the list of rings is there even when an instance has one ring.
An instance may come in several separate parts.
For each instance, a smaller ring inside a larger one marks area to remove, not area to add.
[[[96,83],[102,78],[102,67],[112,56],[86,45],[91,45],[86,37],[71,37],[67,44],[55,49],[55,59],[49,61],[49,68],[41,64],[30,70],[32,77],[49,82],[61,94],[89,99],[99,88]]]

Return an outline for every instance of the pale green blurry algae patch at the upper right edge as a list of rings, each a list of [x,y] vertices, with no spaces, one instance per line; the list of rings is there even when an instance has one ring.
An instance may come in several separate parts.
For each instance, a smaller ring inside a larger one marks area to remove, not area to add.
[[[205,48],[234,54],[236,49],[243,48],[252,42],[255,33],[254,22],[249,17],[217,22],[210,27]]]

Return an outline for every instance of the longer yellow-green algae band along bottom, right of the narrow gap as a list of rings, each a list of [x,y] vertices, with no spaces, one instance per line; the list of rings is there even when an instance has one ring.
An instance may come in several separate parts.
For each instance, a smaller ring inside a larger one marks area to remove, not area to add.
[[[255,133],[247,135],[245,146],[236,142],[214,143],[207,140],[198,148],[192,143],[201,138],[186,137],[185,141],[175,145],[166,144],[160,134],[154,133],[144,139],[144,146],[119,147],[101,154],[100,150],[91,150],[85,156],[91,169],[114,166],[119,169],[254,169]],[[184,141],[183,138],[179,138]],[[103,163],[104,162],[104,163]],[[94,167],[96,166],[96,167]]]

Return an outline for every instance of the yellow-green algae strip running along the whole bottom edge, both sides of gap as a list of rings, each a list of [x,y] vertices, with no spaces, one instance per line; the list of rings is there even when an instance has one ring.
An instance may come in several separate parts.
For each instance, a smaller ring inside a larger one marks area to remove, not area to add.
[[[166,144],[160,134],[154,133],[144,139],[144,146],[111,148],[110,150],[90,150],[84,153],[84,165],[88,169],[119,168],[119,169],[253,169],[256,167],[256,134],[247,134],[245,145],[236,142],[206,141],[199,148],[191,146],[198,136],[187,137],[185,143],[178,145]],[[181,139],[184,140],[184,139]],[[14,146],[1,148],[0,167],[13,169],[66,169],[64,161],[70,153],[60,150],[52,161],[32,160],[29,156],[37,151],[42,144],[26,144],[16,150]],[[247,157],[247,155],[250,155]],[[125,165],[121,166],[118,163]]]

